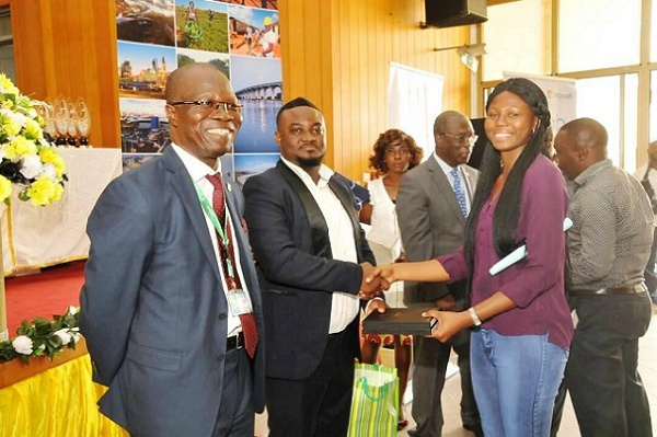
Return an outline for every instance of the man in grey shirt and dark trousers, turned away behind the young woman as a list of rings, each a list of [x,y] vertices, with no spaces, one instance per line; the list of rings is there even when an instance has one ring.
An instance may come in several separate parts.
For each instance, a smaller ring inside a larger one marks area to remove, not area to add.
[[[637,371],[638,338],[652,317],[643,276],[653,242],[650,202],[638,181],[607,158],[607,130],[595,119],[564,125],[554,148],[576,188],[567,249],[578,323],[565,381],[581,436],[652,436]]]

